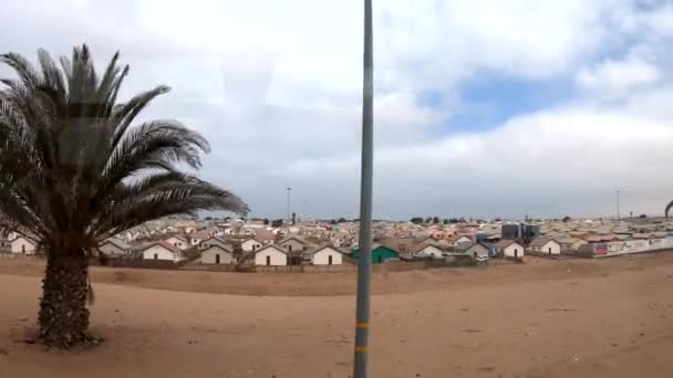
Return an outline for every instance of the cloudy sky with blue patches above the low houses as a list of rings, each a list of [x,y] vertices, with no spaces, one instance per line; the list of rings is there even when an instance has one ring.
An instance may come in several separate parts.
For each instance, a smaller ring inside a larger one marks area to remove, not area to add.
[[[86,42],[146,117],[210,140],[252,216],[356,217],[361,0],[3,4],[0,46]],[[673,198],[673,1],[375,1],[374,216],[656,214]]]

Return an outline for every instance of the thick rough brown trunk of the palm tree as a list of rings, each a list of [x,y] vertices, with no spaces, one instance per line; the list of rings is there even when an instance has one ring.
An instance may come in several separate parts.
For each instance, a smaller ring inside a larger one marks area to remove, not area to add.
[[[40,339],[44,344],[70,348],[89,340],[87,294],[86,256],[48,253],[39,314]]]

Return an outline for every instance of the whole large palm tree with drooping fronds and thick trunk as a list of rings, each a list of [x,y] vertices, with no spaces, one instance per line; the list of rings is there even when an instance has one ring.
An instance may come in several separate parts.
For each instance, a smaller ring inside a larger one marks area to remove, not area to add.
[[[87,264],[102,240],[161,217],[248,207],[178,169],[200,167],[203,136],[172,119],[134,123],[168,87],[117,103],[128,73],[118,53],[102,73],[86,45],[60,65],[43,50],[38,57],[35,69],[0,55],[17,76],[0,86],[0,214],[44,252],[39,337],[69,348],[91,340]]]

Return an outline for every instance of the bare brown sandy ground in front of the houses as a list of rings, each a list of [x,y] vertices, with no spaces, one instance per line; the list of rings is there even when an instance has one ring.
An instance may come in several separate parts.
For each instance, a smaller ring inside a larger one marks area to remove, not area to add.
[[[0,261],[0,377],[351,375],[354,275],[93,269],[106,342],[61,353],[41,269]],[[372,377],[673,377],[672,290],[673,253],[377,274]]]

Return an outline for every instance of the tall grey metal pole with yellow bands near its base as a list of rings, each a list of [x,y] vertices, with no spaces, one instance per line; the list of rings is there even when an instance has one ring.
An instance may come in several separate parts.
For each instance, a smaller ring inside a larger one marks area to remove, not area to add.
[[[360,179],[360,255],[353,378],[367,378],[370,282],[372,273],[372,176],[374,161],[374,57],[372,0],[364,0],[364,56],[362,85],[362,170]]]

